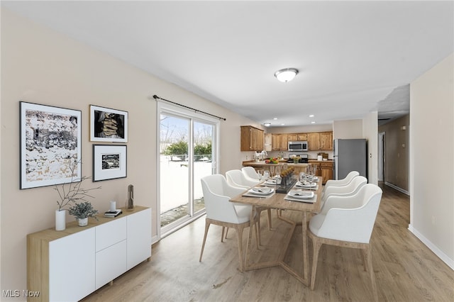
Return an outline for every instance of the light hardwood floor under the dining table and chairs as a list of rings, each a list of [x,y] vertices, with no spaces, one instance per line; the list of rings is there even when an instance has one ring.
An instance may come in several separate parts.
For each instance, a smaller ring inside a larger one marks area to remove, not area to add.
[[[454,301],[453,270],[407,230],[409,197],[387,186],[383,189],[372,233],[380,301]],[[301,214],[284,211],[283,215],[300,220]],[[275,212],[272,219],[275,230],[262,223],[263,246],[253,253],[255,259],[273,257],[273,247],[279,247],[287,230]],[[221,228],[216,225],[209,230],[199,262],[204,223],[202,217],[157,242],[151,262],[139,264],[83,301],[372,301],[359,250],[323,245],[311,291],[280,267],[239,272],[236,233],[231,231],[221,243]],[[286,261],[302,269],[301,226],[292,237]]]

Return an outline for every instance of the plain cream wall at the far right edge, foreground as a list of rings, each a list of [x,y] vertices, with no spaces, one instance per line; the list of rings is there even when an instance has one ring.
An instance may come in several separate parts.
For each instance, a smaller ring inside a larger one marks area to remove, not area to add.
[[[454,54],[410,84],[409,230],[454,269],[453,66]]]

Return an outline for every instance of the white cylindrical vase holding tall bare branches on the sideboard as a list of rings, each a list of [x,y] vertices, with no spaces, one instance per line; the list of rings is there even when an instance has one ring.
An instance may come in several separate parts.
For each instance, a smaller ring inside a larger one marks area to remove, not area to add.
[[[55,211],[55,230],[65,230],[66,228],[66,207],[77,201],[86,201],[85,198],[93,196],[89,195],[89,191],[101,189],[101,186],[91,189],[82,189],[82,181],[89,177],[77,177],[76,169],[80,170],[81,161],[74,160],[71,164],[71,159],[67,158],[67,169],[70,169],[72,177],[69,182],[61,186],[55,185],[54,190],[57,191],[60,200],[57,200],[58,210]]]

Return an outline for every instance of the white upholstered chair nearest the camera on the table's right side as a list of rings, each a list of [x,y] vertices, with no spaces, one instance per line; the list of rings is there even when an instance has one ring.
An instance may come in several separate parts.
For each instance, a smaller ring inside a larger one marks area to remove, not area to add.
[[[321,245],[352,247],[362,250],[362,264],[365,271],[369,270],[374,299],[378,301],[370,237],[381,198],[382,189],[375,184],[365,184],[350,196],[331,195],[326,198],[321,212],[309,221],[308,236],[314,249],[311,289],[315,286]]]

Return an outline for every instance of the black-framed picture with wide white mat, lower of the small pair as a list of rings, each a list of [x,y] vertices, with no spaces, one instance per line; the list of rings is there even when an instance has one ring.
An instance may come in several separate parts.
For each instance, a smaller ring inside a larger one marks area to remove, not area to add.
[[[126,177],[126,145],[93,145],[93,181]]]

